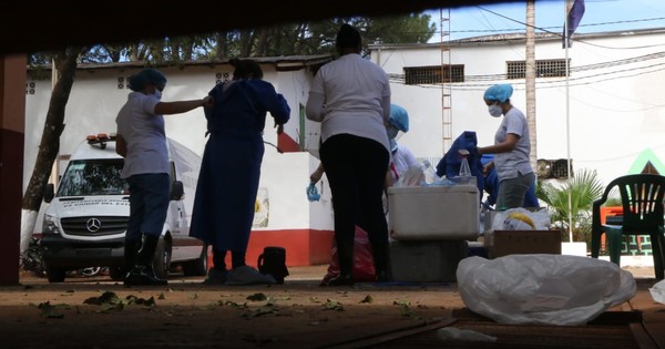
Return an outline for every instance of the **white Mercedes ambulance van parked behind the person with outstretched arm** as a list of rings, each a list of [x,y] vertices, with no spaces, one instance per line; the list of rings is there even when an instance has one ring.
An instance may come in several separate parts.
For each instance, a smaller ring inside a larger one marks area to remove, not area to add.
[[[166,279],[170,270],[182,266],[185,276],[203,276],[207,247],[190,237],[201,156],[171,138],[166,143],[171,203],[155,253],[155,274]],[[115,153],[113,134],[91,135],[70,157],[58,189],[47,185],[41,247],[50,283],[62,283],[68,271],[88,267],[108,267],[113,280],[124,278],[130,193],[120,177],[123,161]]]

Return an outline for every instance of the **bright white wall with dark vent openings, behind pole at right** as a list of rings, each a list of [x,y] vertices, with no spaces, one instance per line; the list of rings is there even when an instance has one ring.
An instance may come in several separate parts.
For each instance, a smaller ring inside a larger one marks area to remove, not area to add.
[[[610,65],[573,72],[570,93],[570,155],[573,171],[596,170],[604,184],[628,173],[645,150],[665,160],[665,58],[644,60],[663,52],[665,29],[602,34],[577,34],[569,50],[571,69]],[[450,58],[449,55],[450,54]],[[535,59],[564,59],[560,39],[539,39]],[[525,112],[524,80],[497,80],[504,74],[507,61],[524,61],[524,41],[441,44],[376,45],[371,59],[389,74],[403,74],[405,66],[463,64],[466,82],[452,84],[452,138],[463,131],[475,131],[479,145],[493,143],[501,120],[488,114],[482,101],[484,90],[494,83],[512,83],[513,105]],[[612,65],[624,59],[630,64]],[[474,79],[483,76],[485,79]],[[392,102],[410,115],[410,131],[399,141],[417,157],[444,153],[442,143],[442,96],[436,85],[391,83]],[[566,84],[561,78],[536,79],[538,158],[565,158]]]

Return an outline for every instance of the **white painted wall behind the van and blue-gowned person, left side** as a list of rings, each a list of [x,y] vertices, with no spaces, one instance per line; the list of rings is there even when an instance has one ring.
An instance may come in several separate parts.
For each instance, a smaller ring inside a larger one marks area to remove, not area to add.
[[[273,83],[283,93],[291,107],[290,121],[285,132],[294,140],[299,120],[299,104],[305,105],[311,73],[307,70],[277,72],[265,64],[264,79]],[[69,103],[65,110],[65,129],[61,136],[60,154],[71,154],[88,134],[115,132],[115,115],[124,104],[131,90],[119,89],[119,78],[127,78],[140,69],[100,69],[80,70],[76,73]],[[228,72],[229,65],[160,68],[167,84],[163,101],[191,100],[205,96],[214,86],[216,73]],[[34,94],[29,93],[33,86]],[[25,94],[25,146],[23,191],[25,189],[37,157],[44,120],[51,97],[50,80],[29,79]],[[166,135],[203,155],[206,138],[206,121],[203,109],[188,113],[165,115]],[[272,116],[266,120],[264,140],[277,144],[276,129]],[[307,127],[318,132],[318,124],[308,123]],[[318,142],[318,141],[317,141]],[[62,165],[66,165],[62,162]],[[318,160],[308,152],[279,154],[273,146],[266,145],[262,166],[259,187],[269,198],[268,226],[258,229],[332,229],[330,194],[327,181],[319,184],[321,201],[309,203],[306,187],[309,174],[318,166]],[[64,170],[64,167],[62,168]],[[233,171],[233,168],[229,168]],[[321,188],[321,185],[324,186]],[[193,193],[192,193],[193,195]],[[41,217],[38,218],[39,229]]]

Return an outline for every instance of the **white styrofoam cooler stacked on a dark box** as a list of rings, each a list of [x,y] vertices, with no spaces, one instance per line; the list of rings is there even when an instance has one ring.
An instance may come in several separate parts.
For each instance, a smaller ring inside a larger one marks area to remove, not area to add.
[[[390,237],[397,240],[475,240],[480,197],[475,185],[388,188]]]

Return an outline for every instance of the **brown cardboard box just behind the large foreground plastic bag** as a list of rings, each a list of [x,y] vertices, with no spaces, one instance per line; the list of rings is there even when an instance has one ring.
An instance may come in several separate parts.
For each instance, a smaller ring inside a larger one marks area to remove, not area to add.
[[[561,230],[494,230],[485,234],[490,258],[520,254],[561,255]]]

